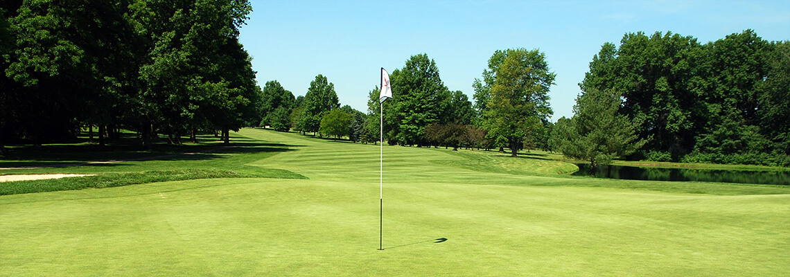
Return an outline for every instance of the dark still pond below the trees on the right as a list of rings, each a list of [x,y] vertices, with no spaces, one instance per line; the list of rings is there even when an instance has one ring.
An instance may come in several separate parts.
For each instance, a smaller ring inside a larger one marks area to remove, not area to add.
[[[577,163],[579,170],[573,175],[589,176],[589,163]],[[690,168],[626,167],[600,165],[597,178],[674,181],[674,182],[723,182],[763,185],[790,185],[790,171],[774,170],[705,170]]]

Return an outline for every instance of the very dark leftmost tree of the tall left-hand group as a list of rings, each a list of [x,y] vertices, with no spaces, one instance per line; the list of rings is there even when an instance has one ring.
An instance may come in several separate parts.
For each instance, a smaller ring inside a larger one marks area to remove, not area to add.
[[[120,88],[134,79],[128,49],[134,35],[123,20],[128,2],[17,4],[6,29],[14,41],[4,58],[10,85],[4,93],[18,134],[40,143],[72,137],[83,122],[100,128],[114,122]]]

